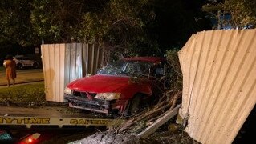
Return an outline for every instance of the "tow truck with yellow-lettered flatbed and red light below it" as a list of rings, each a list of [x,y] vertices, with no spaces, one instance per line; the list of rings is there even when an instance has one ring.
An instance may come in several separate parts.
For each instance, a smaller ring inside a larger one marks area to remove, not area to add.
[[[65,113],[63,109],[65,107],[21,108],[1,106],[0,143],[40,143],[43,139],[45,140],[45,138],[42,138],[44,135],[39,132],[40,130],[51,132],[58,129],[70,132],[78,129],[86,130],[94,126],[106,130],[106,128],[116,125],[117,121],[122,122],[122,120],[100,118],[100,116],[92,114]],[[18,133],[18,136],[12,138],[11,131],[16,131],[15,133]]]

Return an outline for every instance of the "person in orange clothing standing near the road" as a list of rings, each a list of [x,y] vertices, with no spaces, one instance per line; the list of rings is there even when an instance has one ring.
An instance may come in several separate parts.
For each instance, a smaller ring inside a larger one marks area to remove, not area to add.
[[[11,55],[8,55],[6,57],[4,66],[6,67],[7,86],[10,87],[10,79],[13,80],[13,86],[14,86],[15,78],[16,78],[16,63],[14,61],[14,58]]]

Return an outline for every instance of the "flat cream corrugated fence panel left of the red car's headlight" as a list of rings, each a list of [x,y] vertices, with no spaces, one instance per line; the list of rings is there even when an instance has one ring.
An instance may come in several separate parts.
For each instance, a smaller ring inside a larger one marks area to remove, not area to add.
[[[63,102],[64,44],[42,45],[46,100]]]

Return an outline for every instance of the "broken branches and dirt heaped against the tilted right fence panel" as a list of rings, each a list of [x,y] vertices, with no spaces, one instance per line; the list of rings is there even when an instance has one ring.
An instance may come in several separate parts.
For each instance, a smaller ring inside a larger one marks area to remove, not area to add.
[[[175,118],[160,126],[158,130],[144,138],[139,136],[141,131],[151,126],[180,102],[181,91],[165,93],[152,108],[144,110],[128,119],[118,127],[106,132],[92,134],[87,138],[71,142],[71,144],[168,144],[168,143],[197,143],[182,130],[182,126],[175,123]]]

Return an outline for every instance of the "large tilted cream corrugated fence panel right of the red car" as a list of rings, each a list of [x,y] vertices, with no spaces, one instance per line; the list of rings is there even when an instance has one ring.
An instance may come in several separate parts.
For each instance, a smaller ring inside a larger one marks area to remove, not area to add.
[[[256,103],[256,30],[193,34],[179,51],[181,116],[202,143],[231,143]]]

